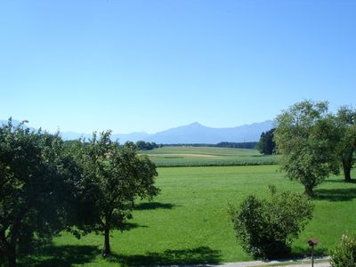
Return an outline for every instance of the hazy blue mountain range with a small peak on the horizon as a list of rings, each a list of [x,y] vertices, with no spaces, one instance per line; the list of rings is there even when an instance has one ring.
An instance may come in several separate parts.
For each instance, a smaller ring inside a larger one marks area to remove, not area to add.
[[[6,120],[0,120],[0,125],[6,124]],[[13,125],[19,124],[19,121],[12,120]],[[137,142],[156,142],[164,144],[174,143],[206,143],[214,144],[218,142],[258,142],[263,132],[271,130],[272,120],[266,120],[261,123],[251,125],[241,125],[228,128],[213,128],[200,125],[198,122],[190,125],[183,125],[156,134],[147,134],[145,132],[131,134],[112,134],[112,140],[118,140],[123,143],[126,141]],[[92,134],[83,134],[76,132],[61,132],[64,140],[75,140],[80,137],[91,138]]]

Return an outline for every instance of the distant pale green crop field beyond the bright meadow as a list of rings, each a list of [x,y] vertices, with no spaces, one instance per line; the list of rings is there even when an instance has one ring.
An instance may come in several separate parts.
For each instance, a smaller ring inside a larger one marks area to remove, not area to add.
[[[277,163],[277,156],[264,156],[257,150],[163,147],[141,153],[148,155],[156,166],[251,166]]]

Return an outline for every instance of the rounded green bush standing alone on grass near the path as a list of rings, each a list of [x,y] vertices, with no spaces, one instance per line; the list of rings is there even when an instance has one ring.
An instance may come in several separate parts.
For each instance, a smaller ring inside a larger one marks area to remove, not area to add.
[[[230,214],[236,237],[248,253],[279,258],[289,255],[293,239],[312,219],[313,205],[304,195],[270,190],[270,201],[249,195],[239,208],[231,206]]]

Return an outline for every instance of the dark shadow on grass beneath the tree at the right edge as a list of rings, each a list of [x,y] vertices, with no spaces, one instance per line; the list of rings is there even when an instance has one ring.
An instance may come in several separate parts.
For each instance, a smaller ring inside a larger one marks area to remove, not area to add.
[[[314,199],[328,201],[351,201],[356,198],[356,188],[314,190]]]

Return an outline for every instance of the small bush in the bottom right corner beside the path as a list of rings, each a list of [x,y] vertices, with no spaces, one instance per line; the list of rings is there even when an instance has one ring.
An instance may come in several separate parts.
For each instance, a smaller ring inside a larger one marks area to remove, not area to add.
[[[356,237],[343,235],[331,254],[332,267],[356,267]]]

